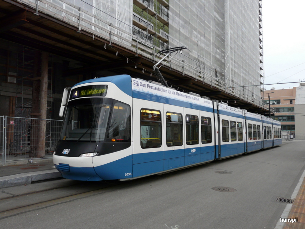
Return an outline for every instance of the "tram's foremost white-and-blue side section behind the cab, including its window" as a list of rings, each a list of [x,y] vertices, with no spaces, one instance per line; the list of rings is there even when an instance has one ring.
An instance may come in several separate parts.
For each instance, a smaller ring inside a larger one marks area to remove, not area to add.
[[[163,104],[133,98],[133,177],[164,170]]]

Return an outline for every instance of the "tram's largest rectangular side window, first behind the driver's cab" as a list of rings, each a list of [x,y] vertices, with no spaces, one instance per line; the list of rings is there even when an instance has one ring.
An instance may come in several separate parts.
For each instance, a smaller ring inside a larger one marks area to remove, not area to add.
[[[141,110],[141,147],[143,149],[161,147],[161,136],[160,111],[143,108]]]

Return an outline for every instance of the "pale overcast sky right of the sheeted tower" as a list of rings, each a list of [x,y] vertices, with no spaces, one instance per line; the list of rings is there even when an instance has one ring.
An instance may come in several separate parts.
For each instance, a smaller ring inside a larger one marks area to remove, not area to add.
[[[263,0],[262,7],[264,83],[305,82],[305,1]],[[294,67],[296,65],[299,66]],[[264,88],[286,89],[298,85],[266,85]]]

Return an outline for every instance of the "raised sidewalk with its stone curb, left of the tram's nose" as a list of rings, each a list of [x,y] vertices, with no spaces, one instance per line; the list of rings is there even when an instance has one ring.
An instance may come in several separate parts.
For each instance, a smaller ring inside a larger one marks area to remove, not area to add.
[[[0,188],[61,177],[54,167],[52,158],[33,159],[32,161],[33,163],[29,163],[28,160],[22,160],[16,162],[16,165],[0,166]]]

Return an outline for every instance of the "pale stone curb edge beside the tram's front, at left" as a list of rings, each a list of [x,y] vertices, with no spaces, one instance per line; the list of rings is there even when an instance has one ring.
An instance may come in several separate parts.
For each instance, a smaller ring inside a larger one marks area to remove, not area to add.
[[[47,180],[59,177],[62,176],[56,169],[4,176],[0,177],[0,188],[31,184],[33,181]]]

